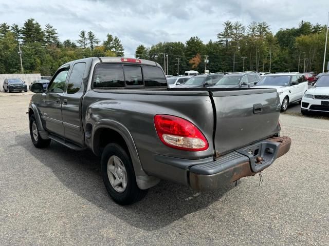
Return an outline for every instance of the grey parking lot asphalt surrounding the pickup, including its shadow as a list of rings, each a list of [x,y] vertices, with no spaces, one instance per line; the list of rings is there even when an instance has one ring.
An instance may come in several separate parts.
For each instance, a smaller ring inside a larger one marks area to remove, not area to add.
[[[329,245],[329,121],[281,114],[290,151],[259,175],[198,193],[161,181],[114,203],[99,158],[32,145],[30,95],[0,96],[0,245]]]

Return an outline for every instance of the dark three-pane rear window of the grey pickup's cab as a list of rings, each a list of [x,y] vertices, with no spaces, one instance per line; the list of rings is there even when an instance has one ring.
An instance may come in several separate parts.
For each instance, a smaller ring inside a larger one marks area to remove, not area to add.
[[[150,65],[100,63],[93,75],[93,89],[167,87],[162,69]]]

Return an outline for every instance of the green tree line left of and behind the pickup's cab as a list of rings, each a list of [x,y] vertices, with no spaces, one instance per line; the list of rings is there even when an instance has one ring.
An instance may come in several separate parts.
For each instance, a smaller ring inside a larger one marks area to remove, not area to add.
[[[68,61],[92,56],[124,56],[117,36],[107,33],[101,42],[92,31],[82,30],[77,40],[60,42],[56,28],[42,28],[33,18],[22,27],[0,24],[0,73],[21,73],[20,49],[24,73],[52,75]]]

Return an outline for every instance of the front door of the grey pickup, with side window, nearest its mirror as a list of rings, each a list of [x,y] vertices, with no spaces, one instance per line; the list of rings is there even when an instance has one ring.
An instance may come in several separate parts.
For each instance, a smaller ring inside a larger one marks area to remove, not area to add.
[[[49,83],[46,93],[41,94],[40,114],[47,131],[64,137],[62,96],[69,66],[59,69]]]

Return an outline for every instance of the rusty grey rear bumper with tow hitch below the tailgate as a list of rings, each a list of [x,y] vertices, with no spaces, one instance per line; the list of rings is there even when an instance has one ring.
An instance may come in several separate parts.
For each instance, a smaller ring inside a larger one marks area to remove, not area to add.
[[[215,190],[242,177],[255,175],[287,153],[290,145],[291,139],[287,136],[271,137],[215,161],[192,166],[190,186],[200,191]]]

